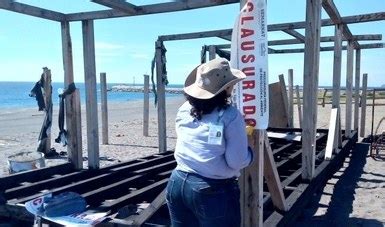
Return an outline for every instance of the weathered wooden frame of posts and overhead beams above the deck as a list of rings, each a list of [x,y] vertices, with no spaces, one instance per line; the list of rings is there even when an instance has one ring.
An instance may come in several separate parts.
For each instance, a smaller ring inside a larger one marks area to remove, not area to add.
[[[174,12],[181,10],[190,10],[198,9],[204,7],[213,7],[225,4],[239,3],[238,0],[186,0],[178,2],[168,2],[168,3],[158,3],[151,5],[133,5],[124,0],[92,0],[95,3],[110,7],[108,10],[100,10],[94,12],[80,12],[80,13],[70,13],[64,14],[61,12],[56,12],[52,10],[47,10],[13,0],[3,0],[0,2],[0,9],[5,9],[13,12],[22,13],[25,15],[35,16],[47,20],[60,22],[62,28],[62,46],[63,46],[63,64],[64,64],[64,78],[65,78],[65,87],[67,88],[69,84],[73,83],[73,59],[72,59],[72,42],[70,37],[70,22],[73,21],[82,21],[82,31],[83,31],[83,51],[84,51],[84,73],[85,73],[85,87],[86,87],[86,111],[87,111],[87,150],[88,150],[88,174],[96,171],[98,176],[96,178],[103,178],[107,173],[99,169],[99,136],[98,136],[98,111],[96,105],[96,67],[95,67],[95,40],[94,40],[94,20],[97,19],[108,19],[116,17],[130,17],[146,14],[156,14],[164,12]],[[323,7],[328,13],[330,19],[321,19],[321,7]],[[348,50],[348,61],[347,61],[347,93],[349,94],[349,99],[347,101],[347,109],[352,109],[352,78],[353,78],[353,51],[356,50],[356,92],[359,89],[359,77],[360,77],[360,62],[361,59],[361,49],[368,48],[382,48],[383,43],[373,43],[373,44],[360,44],[360,40],[381,40],[381,35],[372,34],[372,35],[359,35],[354,36],[348,28],[348,24],[352,23],[362,23],[370,21],[385,20],[385,12],[378,12],[372,14],[364,15],[354,15],[348,17],[341,17],[336,9],[332,0],[319,0],[311,1],[307,0],[306,3],[306,21],[303,22],[293,22],[293,23],[281,23],[281,24],[272,24],[268,25],[268,31],[282,31],[295,39],[288,40],[276,40],[270,41],[269,46],[273,45],[285,45],[285,44],[304,44],[304,48],[297,49],[282,49],[276,50],[269,48],[269,53],[278,54],[278,53],[300,53],[304,52],[305,59],[305,68],[304,68],[304,107],[307,112],[303,113],[302,118],[302,152],[295,152],[296,157],[302,153],[302,170],[297,170],[295,173],[297,177],[302,175],[302,178],[305,180],[312,180],[315,177],[319,177],[322,173],[322,170],[316,168],[317,165],[317,105],[316,105],[316,90],[318,88],[318,62],[319,62],[319,52],[320,51],[334,51],[334,69],[333,69],[333,107],[339,108],[339,90],[340,90],[340,71],[341,71],[341,51],[343,49]],[[333,37],[320,37],[321,27],[323,26],[335,26],[335,36]],[[305,35],[296,31],[296,29],[305,29]],[[157,89],[158,89],[158,128],[159,128],[159,151],[161,153],[166,152],[166,125],[165,125],[165,84],[162,74],[162,66],[164,61],[162,59],[161,48],[164,41],[171,40],[181,40],[181,39],[194,39],[194,38],[204,38],[204,37],[219,37],[225,40],[230,40],[231,29],[216,30],[216,31],[207,31],[207,32],[195,32],[188,34],[179,34],[179,35],[167,35],[159,36],[156,42],[156,61],[157,61]],[[342,46],[342,41],[346,40],[348,44],[346,47]],[[334,46],[331,47],[320,47],[320,42],[333,42]],[[69,97],[69,102],[67,102],[66,116],[69,132],[69,157],[71,163],[75,166],[76,169],[82,168],[82,145],[81,145],[81,125],[80,125],[80,103],[79,103],[79,93],[75,92]],[[356,105],[354,122],[358,118],[358,106]],[[355,141],[356,133],[351,130],[351,111],[346,113],[346,125],[345,130],[346,143]],[[357,125],[354,124],[353,129],[356,129]],[[339,130],[336,130],[339,131]],[[340,132],[338,132],[340,133]],[[265,138],[265,136],[263,137]],[[331,138],[335,138],[332,136]],[[350,139],[349,139],[350,138]],[[266,141],[264,139],[264,141]],[[285,146],[284,146],[285,147]],[[286,146],[289,147],[289,146]],[[283,147],[277,148],[278,150],[285,150]],[[260,151],[262,152],[262,151]],[[274,153],[274,151],[272,151]],[[164,153],[165,154],[165,153]],[[261,156],[262,157],[262,156]],[[289,155],[288,160],[291,160],[293,157]],[[325,164],[326,163],[326,164]],[[161,164],[162,165],[162,164]],[[164,165],[171,165],[168,163]],[[328,162],[322,162],[320,165],[325,168],[328,165]],[[277,165],[278,166],[278,165]],[[58,167],[62,168],[62,167]],[[69,168],[69,167],[63,167]],[[114,167],[111,167],[114,168]],[[117,167],[119,168],[119,167]],[[52,168],[55,169],[55,168]],[[139,171],[139,170],[138,170]],[[142,172],[144,170],[141,170]],[[71,172],[71,171],[70,171]],[[163,172],[162,172],[163,173]],[[69,173],[71,175],[71,173]],[[298,175],[299,174],[299,175]],[[21,174],[23,175],[23,174]],[[20,176],[21,176],[20,175]],[[159,174],[158,174],[159,175]],[[161,174],[162,175],[162,174]],[[164,173],[162,177],[166,176]],[[108,174],[106,175],[108,176]],[[147,175],[146,175],[147,176]],[[279,175],[282,178],[280,173]],[[17,178],[17,177],[16,177]],[[134,180],[129,178],[130,180]],[[292,175],[289,176],[291,180],[293,179]],[[11,178],[9,178],[11,179]],[[15,179],[15,178],[12,178]],[[136,179],[136,178],[135,178]],[[156,187],[159,187],[162,184],[165,184],[166,178],[158,181]],[[283,186],[289,186],[288,183],[285,185],[285,181],[282,181]],[[2,185],[11,184],[10,181],[5,180]],[[127,182],[125,182],[127,183]],[[39,183],[40,184],[40,183]],[[23,186],[17,186],[17,188]],[[76,186],[75,186],[76,187]],[[155,186],[154,186],[155,187]],[[304,186],[300,186],[304,187]],[[13,188],[10,189],[14,190]],[[19,190],[19,189],[18,189]],[[31,187],[23,187],[23,190],[31,190]],[[111,187],[109,190],[115,190]],[[258,188],[261,192],[261,188]],[[290,190],[290,189],[289,189]],[[76,191],[76,190],[75,190]],[[88,192],[87,192],[88,193]],[[86,194],[87,194],[86,193]],[[137,192],[136,194],[138,194]],[[135,194],[135,193],[134,193]],[[298,194],[298,193],[297,193]],[[88,195],[88,194],[87,194]],[[90,194],[93,195],[93,192]],[[124,197],[124,196],[123,196]],[[130,197],[127,195],[124,197],[124,201]],[[294,196],[295,197],[295,196]],[[298,196],[297,196],[298,197]],[[288,199],[290,201],[290,196]],[[20,202],[19,200],[17,200]],[[113,203],[115,204],[115,203]],[[111,205],[111,204],[107,204]],[[260,204],[261,205],[261,204]],[[116,204],[114,205],[116,206]],[[116,208],[116,207],[115,207]],[[261,209],[261,208],[259,208]],[[261,213],[260,213],[261,214]],[[276,215],[272,212],[272,215]],[[279,216],[279,215],[278,215]],[[272,217],[272,216],[270,216]],[[278,219],[268,219],[267,222],[274,222]],[[262,216],[259,216],[256,223],[261,223]]]

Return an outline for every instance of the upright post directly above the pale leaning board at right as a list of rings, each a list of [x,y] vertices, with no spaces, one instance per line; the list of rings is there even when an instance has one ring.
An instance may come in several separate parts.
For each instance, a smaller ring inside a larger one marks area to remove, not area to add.
[[[342,60],[341,55],[342,55],[342,25],[336,24],[335,31],[334,31],[332,108],[340,108],[341,60]]]

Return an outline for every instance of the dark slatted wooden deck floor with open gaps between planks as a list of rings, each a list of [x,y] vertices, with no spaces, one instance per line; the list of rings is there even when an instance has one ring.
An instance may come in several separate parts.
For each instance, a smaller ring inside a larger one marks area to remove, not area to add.
[[[307,195],[333,173],[333,170],[355,144],[357,133],[351,139],[343,137],[343,146],[329,161],[324,160],[327,130],[318,130],[316,147],[316,178],[311,182],[301,178],[301,129],[270,129],[269,141],[273,150],[280,180],[289,211],[282,213],[273,207],[264,185],[264,223],[287,224],[306,204]],[[271,133],[273,132],[273,133]],[[287,136],[280,136],[280,135]],[[296,136],[293,136],[296,135]],[[33,216],[25,202],[45,193],[58,194],[74,191],[82,194],[90,209],[110,213],[106,225],[124,224],[122,208],[151,202],[165,188],[171,171],[176,166],[172,152],[115,164],[99,170],[75,170],[71,164],[62,164],[0,178],[0,217],[32,223]],[[121,212],[119,212],[121,213]],[[120,217],[120,218],[117,218]],[[148,222],[168,223],[167,209],[163,206]]]

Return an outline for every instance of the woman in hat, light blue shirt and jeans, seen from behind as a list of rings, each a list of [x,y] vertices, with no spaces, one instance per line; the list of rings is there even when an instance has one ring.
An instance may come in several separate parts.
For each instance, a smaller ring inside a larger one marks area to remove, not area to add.
[[[187,77],[187,99],[176,117],[177,167],[167,185],[174,227],[240,225],[240,170],[252,162],[242,114],[230,105],[246,75],[217,58]]]

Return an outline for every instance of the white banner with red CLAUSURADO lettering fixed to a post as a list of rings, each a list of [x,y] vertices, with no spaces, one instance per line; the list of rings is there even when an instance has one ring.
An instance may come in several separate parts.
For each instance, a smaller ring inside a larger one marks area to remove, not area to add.
[[[269,124],[269,82],[266,0],[248,0],[238,15],[231,37],[231,66],[246,79],[234,89],[234,102],[245,122],[256,129]]]

